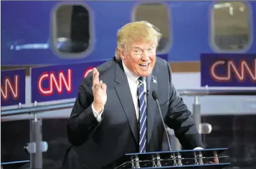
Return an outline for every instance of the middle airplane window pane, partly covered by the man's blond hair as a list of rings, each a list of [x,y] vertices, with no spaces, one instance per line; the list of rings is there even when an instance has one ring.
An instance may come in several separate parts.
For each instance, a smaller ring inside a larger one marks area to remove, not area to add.
[[[166,50],[171,46],[169,9],[165,4],[139,4],[133,13],[133,21],[148,21],[155,25],[163,34],[157,51]]]

